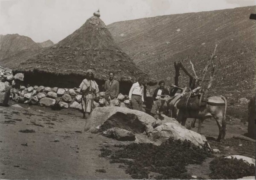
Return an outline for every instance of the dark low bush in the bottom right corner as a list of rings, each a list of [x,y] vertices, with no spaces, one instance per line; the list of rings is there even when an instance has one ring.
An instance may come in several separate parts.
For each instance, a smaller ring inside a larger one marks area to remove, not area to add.
[[[255,165],[249,165],[236,158],[217,157],[210,163],[210,170],[212,179],[235,180],[246,176],[255,176]]]

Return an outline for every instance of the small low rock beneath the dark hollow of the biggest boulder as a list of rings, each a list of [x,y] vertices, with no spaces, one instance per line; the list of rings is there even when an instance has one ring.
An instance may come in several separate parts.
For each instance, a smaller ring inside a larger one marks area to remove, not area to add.
[[[134,141],[136,139],[135,135],[131,131],[121,128],[110,128],[103,131],[102,135],[119,141]]]

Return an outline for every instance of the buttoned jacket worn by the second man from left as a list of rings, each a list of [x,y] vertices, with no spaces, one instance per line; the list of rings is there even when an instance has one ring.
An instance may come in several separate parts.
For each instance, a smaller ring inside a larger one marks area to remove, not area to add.
[[[113,83],[110,85],[110,81],[106,81],[105,85],[105,99],[107,99],[109,96],[111,99],[117,98],[119,94],[119,82],[116,80],[113,80]]]

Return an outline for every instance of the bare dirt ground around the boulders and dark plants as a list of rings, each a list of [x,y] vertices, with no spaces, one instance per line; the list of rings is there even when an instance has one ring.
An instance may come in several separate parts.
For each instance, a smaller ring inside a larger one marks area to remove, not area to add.
[[[99,157],[103,146],[128,142],[85,133],[85,120],[77,110],[20,105],[24,108],[0,107],[0,179],[131,179],[125,169],[118,168],[119,164]],[[217,138],[218,126],[207,120],[201,132],[210,139]],[[227,138],[246,132],[247,125],[239,119],[227,122]],[[207,178],[210,161],[189,165],[188,171]],[[99,169],[106,172],[96,171]]]

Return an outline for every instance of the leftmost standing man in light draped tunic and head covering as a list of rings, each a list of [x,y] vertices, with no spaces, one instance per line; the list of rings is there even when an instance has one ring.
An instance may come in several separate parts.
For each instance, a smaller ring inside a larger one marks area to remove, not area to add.
[[[87,70],[86,78],[81,82],[80,86],[82,92],[82,109],[84,118],[89,117],[90,112],[94,109],[94,97],[99,92],[99,87],[96,81],[94,81],[94,75],[92,70]]]

